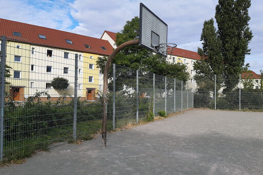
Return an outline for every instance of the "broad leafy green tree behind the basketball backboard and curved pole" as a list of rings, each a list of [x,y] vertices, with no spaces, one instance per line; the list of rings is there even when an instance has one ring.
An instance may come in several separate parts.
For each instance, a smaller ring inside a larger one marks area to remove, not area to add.
[[[126,24],[121,32],[116,34],[116,46],[122,43],[133,40],[138,36],[139,29],[139,18],[135,16],[131,20],[126,21]],[[97,60],[97,67],[104,71],[104,65],[107,61],[107,57],[100,57]],[[124,48],[120,51],[113,59],[112,63],[121,65],[123,67],[118,67],[121,70],[116,73],[116,81],[121,80],[125,85],[134,86],[136,80],[136,72],[128,70],[126,68],[131,68],[133,70],[139,70],[147,72],[149,75],[152,73],[169,76],[173,78],[178,78],[181,80],[187,80],[189,78],[189,73],[187,72],[187,66],[185,64],[172,64],[166,59],[158,54],[140,47],[138,45],[133,45]],[[125,68],[124,68],[125,67]],[[145,77],[145,81],[149,81],[149,76],[146,73],[142,74],[140,72],[140,77]],[[111,75],[110,75],[111,76]],[[143,82],[143,81],[140,81]],[[150,81],[149,81],[150,82]],[[152,84],[152,82],[150,82]],[[144,84],[140,84],[144,86]],[[109,87],[111,83],[109,83]],[[145,84],[147,87],[148,84]],[[116,87],[117,88],[117,87]],[[122,86],[120,86],[122,88]]]

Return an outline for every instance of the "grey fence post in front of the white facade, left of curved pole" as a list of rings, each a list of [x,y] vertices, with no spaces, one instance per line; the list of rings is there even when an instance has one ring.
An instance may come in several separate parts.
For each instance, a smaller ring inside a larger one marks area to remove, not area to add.
[[[75,81],[74,81],[74,123],[73,123],[73,137],[76,140],[76,129],[77,129],[77,58],[78,55],[75,54]]]

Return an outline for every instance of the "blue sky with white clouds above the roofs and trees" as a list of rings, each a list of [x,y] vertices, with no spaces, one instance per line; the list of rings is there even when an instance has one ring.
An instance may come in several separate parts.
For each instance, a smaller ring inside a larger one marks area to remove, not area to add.
[[[214,17],[217,4],[217,0],[0,0],[0,17],[100,38],[104,30],[118,32],[127,20],[138,16],[140,2],[168,24],[168,42],[191,51],[201,47],[204,20]],[[250,28],[254,37],[246,63],[259,73],[263,70],[263,3],[251,2]]]

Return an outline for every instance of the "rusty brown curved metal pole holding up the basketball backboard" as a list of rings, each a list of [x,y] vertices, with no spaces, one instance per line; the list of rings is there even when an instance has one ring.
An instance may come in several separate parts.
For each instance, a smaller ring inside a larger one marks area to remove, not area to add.
[[[111,65],[111,61],[113,60],[114,56],[123,48],[131,45],[137,45],[139,42],[138,39],[134,39],[131,41],[127,41],[119,45],[109,56],[105,68],[104,68],[104,75],[103,75],[103,123],[102,123],[102,147],[106,147],[106,138],[107,138],[107,87],[108,87],[108,74]]]

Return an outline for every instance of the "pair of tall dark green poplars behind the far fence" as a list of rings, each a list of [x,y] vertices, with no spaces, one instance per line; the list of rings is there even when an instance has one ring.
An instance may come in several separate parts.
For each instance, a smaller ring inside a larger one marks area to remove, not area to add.
[[[210,77],[213,81],[213,74],[222,74],[218,77],[219,84],[225,84],[225,91],[235,88],[238,75],[231,74],[240,74],[248,67],[244,64],[245,56],[250,54],[248,45],[253,37],[249,28],[250,6],[250,0],[218,1],[215,12],[218,30],[213,19],[205,21],[200,38],[203,48],[198,48],[201,61],[194,64],[200,76],[195,76],[195,79]]]

